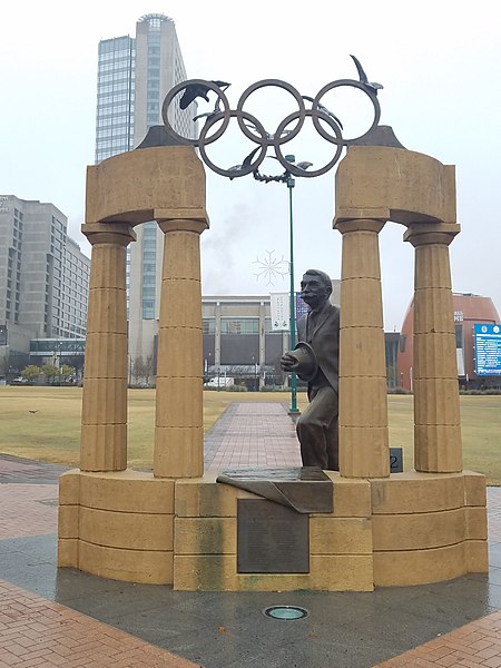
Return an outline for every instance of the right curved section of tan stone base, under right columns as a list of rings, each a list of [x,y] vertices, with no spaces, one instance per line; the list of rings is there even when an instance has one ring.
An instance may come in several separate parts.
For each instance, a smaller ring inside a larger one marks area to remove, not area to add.
[[[371,492],[375,586],[488,571],[483,475],[395,473],[372,480]]]

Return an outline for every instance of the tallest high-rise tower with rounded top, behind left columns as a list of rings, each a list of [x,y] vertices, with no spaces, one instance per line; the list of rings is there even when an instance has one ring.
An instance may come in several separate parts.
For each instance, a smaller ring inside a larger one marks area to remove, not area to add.
[[[136,23],[136,37],[99,42],[96,163],[134,149],[148,128],[161,125],[168,91],[187,79],[174,21],[151,13]],[[191,136],[196,106],[170,106],[170,124]],[[138,357],[153,360],[158,328],[164,234],[155,222],[136,228],[127,250],[130,369]]]

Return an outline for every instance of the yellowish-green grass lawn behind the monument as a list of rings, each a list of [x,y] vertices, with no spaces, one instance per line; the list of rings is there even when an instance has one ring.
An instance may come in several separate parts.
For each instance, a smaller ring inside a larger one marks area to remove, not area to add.
[[[390,445],[404,449],[404,470],[409,470],[413,468],[413,397],[391,394],[387,399]],[[288,405],[289,394],[204,392],[204,430],[234,401]],[[460,401],[464,468],[483,473],[489,484],[501,485],[501,395],[463,395]],[[299,392],[299,410],[306,403]],[[78,465],[80,413],[80,387],[0,386],[0,452]],[[129,390],[129,466],[151,466],[154,426],[155,390]]]

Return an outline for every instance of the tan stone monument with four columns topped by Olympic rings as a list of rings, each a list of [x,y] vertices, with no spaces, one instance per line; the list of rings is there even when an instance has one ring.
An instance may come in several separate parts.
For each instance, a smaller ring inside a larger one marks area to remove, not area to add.
[[[193,146],[149,146],[87,173],[82,232],[92,256],[81,455],[80,468],[60,479],[59,567],[178,590],[265,591],[371,591],[488,570],[485,480],[462,468],[449,264],[449,245],[460,230],[454,167],[387,141],[392,132],[377,127],[377,89],[367,89],[366,81],[340,81],[324,87],[311,109],[305,108],[306,96],[293,92],[298,111],[271,138],[242,110],[245,99],[230,111],[225,92],[203,81],[217,94],[216,107],[222,102],[225,110],[214,110],[199,145],[208,165],[204,139],[214,119],[223,119],[224,126],[233,115],[255,124],[259,155],[233,171],[233,178],[255,173],[271,146],[283,159],[283,130],[294,120],[301,129],[307,116],[332,128],[327,140],[336,160],[347,147],[336,171],[334,215],[334,230],[343,237],[340,470],[321,471],[334,490],[332,510],[306,508],[299,513],[286,508],[272,513],[277,527],[294,524],[295,540],[303,546],[301,559],[287,572],[271,572],[237,553],[238,540],[248,543],[252,538],[248,502],[278,504],[204,472],[204,167]],[[166,102],[188,85],[175,87]],[[374,104],[375,121],[358,143],[344,141],[337,122],[322,110],[325,90],[340,85],[366,89]],[[289,169],[304,176],[298,166]],[[134,228],[147,220],[156,220],[166,239],[151,473],[127,468],[125,248],[135,239]],[[415,248],[415,458],[414,469],[403,473],[390,472],[389,456],[379,254],[379,233],[389,222],[403,225],[404,240]],[[278,483],[273,493],[279,491],[281,479]]]

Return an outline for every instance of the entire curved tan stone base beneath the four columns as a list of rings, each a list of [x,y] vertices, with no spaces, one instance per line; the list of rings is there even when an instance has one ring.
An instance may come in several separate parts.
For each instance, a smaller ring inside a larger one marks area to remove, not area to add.
[[[485,479],[394,473],[341,478],[334,511],[310,515],[308,573],[237,572],[237,500],[216,483],[135,471],[69,471],[60,479],[60,567],[178,590],[372,591],[488,570]]]

